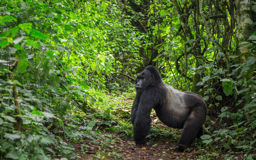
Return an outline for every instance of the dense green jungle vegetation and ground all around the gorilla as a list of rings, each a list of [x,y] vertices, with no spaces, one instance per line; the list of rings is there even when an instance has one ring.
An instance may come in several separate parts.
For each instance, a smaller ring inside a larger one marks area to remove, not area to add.
[[[256,1],[0,1],[0,159],[253,159]],[[204,98],[205,134],[154,112],[132,140],[135,76],[146,66]]]

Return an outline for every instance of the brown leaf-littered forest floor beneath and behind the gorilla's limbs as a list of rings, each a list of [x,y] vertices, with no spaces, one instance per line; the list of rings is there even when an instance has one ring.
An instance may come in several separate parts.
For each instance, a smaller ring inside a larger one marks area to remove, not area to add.
[[[132,100],[126,99],[131,107]],[[130,109],[129,109],[130,110]],[[127,111],[127,110],[126,110]],[[130,111],[127,111],[130,113]],[[158,121],[156,116],[152,117],[153,125]],[[159,121],[158,121],[159,122]],[[161,122],[160,122],[161,123]],[[167,126],[158,124],[161,129]],[[182,130],[175,133],[180,137]],[[135,145],[132,138],[123,137],[121,134],[110,131],[103,131],[97,135],[98,139],[83,138],[74,143],[71,139],[66,139],[75,148],[75,155],[79,159],[244,159],[244,153],[234,153],[228,151],[217,151],[218,146],[212,149],[206,148],[201,140],[196,140],[197,145],[188,148],[185,152],[174,150],[177,141],[166,141],[156,138],[153,142],[148,140],[146,145]],[[199,145],[198,145],[199,144]],[[202,144],[202,145],[200,145]]]

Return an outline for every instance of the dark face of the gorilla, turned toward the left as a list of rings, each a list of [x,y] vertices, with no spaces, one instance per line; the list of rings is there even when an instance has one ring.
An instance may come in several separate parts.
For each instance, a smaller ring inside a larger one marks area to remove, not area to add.
[[[137,93],[142,93],[147,86],[152,83],[152,76],[150,71],[144,70],[136,77],[135,89]]]

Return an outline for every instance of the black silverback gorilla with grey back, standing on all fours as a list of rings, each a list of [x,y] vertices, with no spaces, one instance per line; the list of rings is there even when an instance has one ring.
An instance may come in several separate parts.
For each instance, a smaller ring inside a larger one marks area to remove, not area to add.
[[[203,135],[207,108],[203,98],[192,92],[181,92],[162,81],[158,70],[148,66],[136,77],[137,91],[132,105],[133,138],[145,144],[150,131],[150,113],[155,109],[158,118],[167,126],[182,129],[180,140],[173,148],[183,151],[196,137]]]

